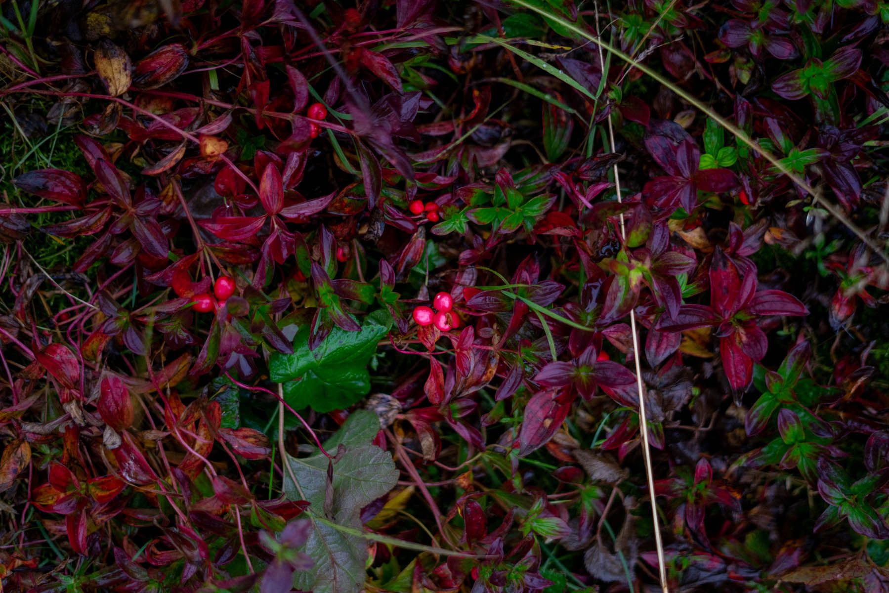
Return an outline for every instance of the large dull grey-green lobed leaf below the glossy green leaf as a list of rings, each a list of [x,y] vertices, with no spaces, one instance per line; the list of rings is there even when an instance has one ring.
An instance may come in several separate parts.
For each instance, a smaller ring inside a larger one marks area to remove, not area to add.
[[[385,496],[396,485],[398,470],[392,456],[371,444],[380,430],[376,414],[357,410],[324,444],[328,453],[342,445],[332,466],[332,496],[326,512],[329,521],[352,529],[361,528],[361,509]],[[327,469],[330,461],[319,450],[308,457],[286,455],[296,484],[284,472],[284,495],[292,501],[311,503],[309,518],[323,517],[327,500]],[[327,522],[313,520],[315,528],[302,548],[315,561],[311,571],[294,576],[293,586],[315,593],[357,593],[364,588],[367,545],[359,535],[340,531]]]

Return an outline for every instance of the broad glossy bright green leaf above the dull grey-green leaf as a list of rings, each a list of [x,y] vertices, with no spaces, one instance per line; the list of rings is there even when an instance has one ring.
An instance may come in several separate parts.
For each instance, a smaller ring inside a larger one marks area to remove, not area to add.
[[[383,317],[388,313],[383,312]],[[311,406],[316,412],[347,408],[371,390],[367,363],[377,350],[377,341],[388,325],[368,317],[360,332],[334,327],[314,350],[308,349],[308,325],[293,340],[293,354],[272,354],[268,362],[272,381],[284,383],[284,401],[299,410]]]

